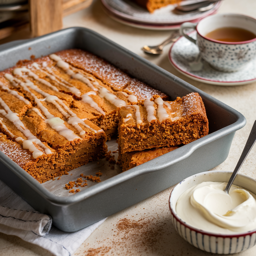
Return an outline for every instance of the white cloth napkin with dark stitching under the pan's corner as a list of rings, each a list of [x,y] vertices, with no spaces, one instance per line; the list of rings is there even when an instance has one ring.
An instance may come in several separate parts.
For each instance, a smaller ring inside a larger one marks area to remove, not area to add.
[[[0,232],[37,244],[56,256],[73,254],[105,219],[77,232],[63,232],[51,226],[50,216],[35,211],[0,180]]]

